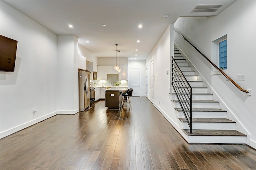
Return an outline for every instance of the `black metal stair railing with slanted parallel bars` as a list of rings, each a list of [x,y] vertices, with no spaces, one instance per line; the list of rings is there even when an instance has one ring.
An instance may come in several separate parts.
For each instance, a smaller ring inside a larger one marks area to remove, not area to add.
[[[172,56],[172,87],[192,133],[192,88]]]

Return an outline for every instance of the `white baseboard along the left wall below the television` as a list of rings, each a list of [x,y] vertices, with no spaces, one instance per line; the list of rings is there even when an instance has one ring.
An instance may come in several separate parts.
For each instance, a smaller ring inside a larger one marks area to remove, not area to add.
[[[24,123],[24,124],[21,124],[21,125],[19,125],[19,126],[14,127],[14,128],[8,129],[8,130],[6,130],[6,131],[4,131],[4,132],[1,132],[1,133],[0,133],[0,139],[4,138],[4,137],[6,137],[6,136],[9,136],[10,134],[13,134],[13,133],[15,133],[15,132],[18,132],[18,131],[20,131],[20,130],[22,130],[22,129],[24,129],[24,128],[27,128],[27,127],[29,127],[29,126],[32,126],[32,125],[34,125],[34,124],[36,124],[36,123],[38,123],[38,122],[41,122],[41,121],[43,121],[43,120],[46,120],[46,119],[48,119],[48,118],[50,118],[50,117],[52,117],[52,116],[55,116],[55,115],[57,115],[57,114],[58,114],[58,111],[52,112],[52,113],[47,114],[47,115],[45,115],[45,116],[42,116],[42,117],[40,117],[40,118],[31,120],[31,121],[29,121],[29,122],[26,122],[26,123]]]

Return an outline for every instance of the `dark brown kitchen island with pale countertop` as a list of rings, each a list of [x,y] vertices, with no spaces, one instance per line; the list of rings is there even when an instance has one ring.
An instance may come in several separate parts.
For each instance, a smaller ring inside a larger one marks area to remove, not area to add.
[[[105,106],[108,107],[108,109],[121,109],[122,93],[126,90],[126,87],[112,87],[106,89]]]

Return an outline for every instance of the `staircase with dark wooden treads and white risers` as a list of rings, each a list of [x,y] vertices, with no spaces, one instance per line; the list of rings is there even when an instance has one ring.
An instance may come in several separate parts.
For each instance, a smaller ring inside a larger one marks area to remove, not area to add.
[[[188,143],[245,144],[246,135],[235,130],[236,122],[226,118],[227,111],[220,108],[219,101],[213,100],[212,90],[175,46],[174,60],[193,89],[192,134],[176,94],[170,93],[183,138]]]

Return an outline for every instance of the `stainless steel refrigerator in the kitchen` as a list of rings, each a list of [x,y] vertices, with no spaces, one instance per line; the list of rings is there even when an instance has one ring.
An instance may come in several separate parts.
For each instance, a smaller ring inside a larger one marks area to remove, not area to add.
[[[90,73],[78,71],[79,84],[79,110],[84,111],[90,107]]]

